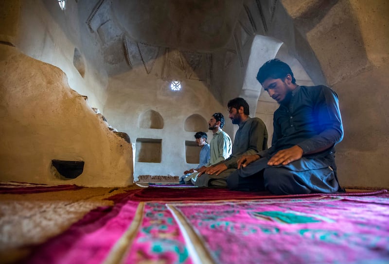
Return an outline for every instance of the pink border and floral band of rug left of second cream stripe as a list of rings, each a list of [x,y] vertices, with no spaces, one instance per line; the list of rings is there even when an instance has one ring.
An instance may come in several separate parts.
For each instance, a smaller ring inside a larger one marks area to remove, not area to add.
[[[92,210],[33,252],[21,263],[193,263],[165,203],[126,199]]]

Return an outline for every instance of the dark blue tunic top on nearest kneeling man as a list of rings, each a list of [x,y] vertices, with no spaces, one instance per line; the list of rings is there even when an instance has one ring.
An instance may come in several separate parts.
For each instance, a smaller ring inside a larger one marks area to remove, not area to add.
[[[274,112],[271,148],[260,151],[261,157],[298,145],[305,153],[339,143],[343,125],[336,93],[324,85],[298,86],[289,105],[281,104]],[[310,155],[325,156],[323,153]]]

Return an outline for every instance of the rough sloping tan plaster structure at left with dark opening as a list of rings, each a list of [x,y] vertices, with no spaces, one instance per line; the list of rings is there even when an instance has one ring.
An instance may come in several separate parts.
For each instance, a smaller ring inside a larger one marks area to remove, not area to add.
[[[81,186],[133,182],[132,147],[109,131],[58,68],[0,45],[0,180]],[[53,159],[84,161],[61,180]]]

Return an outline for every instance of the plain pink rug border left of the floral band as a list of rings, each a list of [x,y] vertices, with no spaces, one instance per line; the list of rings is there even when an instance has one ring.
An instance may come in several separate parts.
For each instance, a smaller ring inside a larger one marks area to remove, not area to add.
[[[35,247],[32,255],[20,263],[96,264],[111,251],[111,261],[120,259],[125,231],[132,223],[137,226],[141,218],[138,206],[139,202],[121,200],[112,207],[94,209],[67,231]]]

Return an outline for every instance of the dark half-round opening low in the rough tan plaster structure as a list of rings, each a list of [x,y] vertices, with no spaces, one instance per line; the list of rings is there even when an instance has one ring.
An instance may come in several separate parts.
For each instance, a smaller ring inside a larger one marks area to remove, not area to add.
[[[83,161],[52,160],[52,174],[62,180],[75,179],[84,171]]]

